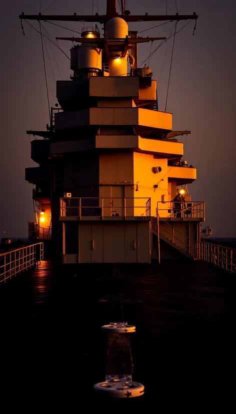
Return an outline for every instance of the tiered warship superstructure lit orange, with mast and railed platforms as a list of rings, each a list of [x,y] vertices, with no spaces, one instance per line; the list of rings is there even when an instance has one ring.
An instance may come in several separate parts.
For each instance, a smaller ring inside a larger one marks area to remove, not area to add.
[[[20,15],[93,24],[81,37],[58,38],[76,44],[72,75],[56,82],[59,105],[46,130],[27,131],[37,136],[31,159],[38,163],[25,169],[35,185],[29,238],[50,239],[64,264],[198,259],[204,202],[191,200],[186,189],[196,169],[178,164],[183,143],[177,137],[190,131],[172,131],[172,114],[158,110],[151,69],[138,67],[138,44],[161,38],[139,37],[127,25],[197,15],[132,16],[121,5],[120,15],[115,0],[107,0],[106,15]],[[177,193],[184,198],[176,204]]]

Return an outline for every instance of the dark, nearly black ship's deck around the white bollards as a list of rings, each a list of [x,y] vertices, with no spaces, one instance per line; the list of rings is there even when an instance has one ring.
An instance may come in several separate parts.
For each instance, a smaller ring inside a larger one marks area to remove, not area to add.
[[[95,404],[107,345],[100,327],[123,312],[136,326],[133,379],[145,386],[128,404],[154,400],[161,412],[192,412],[223,401],[226,410],[234,394],[234,275],[187,259],[121,266],[117,279],[109,266],[79,269],[46,261],[0,285],[1,395],[31,412]]]

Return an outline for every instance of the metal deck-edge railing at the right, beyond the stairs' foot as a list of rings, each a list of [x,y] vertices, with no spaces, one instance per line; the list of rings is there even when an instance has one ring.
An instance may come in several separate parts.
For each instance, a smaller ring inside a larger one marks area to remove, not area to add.
[[[236,273],[236,249],[214,245],[212,243],[198,243],[200,259],[231,273]]]

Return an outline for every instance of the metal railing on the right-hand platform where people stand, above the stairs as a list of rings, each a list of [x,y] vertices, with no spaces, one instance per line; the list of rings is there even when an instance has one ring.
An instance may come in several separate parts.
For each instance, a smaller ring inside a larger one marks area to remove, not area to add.
[[[160,204],[161,207],[160,208]],[[163,204],[165,204],[163,208]],[[176,219],[202,219],[205,217],[205,202],[204,201],[185,201],[185,202],[173,202],[173,201],[157,201],[157,213],[161,217],[162,212],[165,212],[165,218]]]

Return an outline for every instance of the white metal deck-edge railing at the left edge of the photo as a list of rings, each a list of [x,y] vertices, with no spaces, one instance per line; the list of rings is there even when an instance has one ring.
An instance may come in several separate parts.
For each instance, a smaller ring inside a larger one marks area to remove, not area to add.
[[[0,282],[16,276],[43,260],[43,243],[0,254]]]

